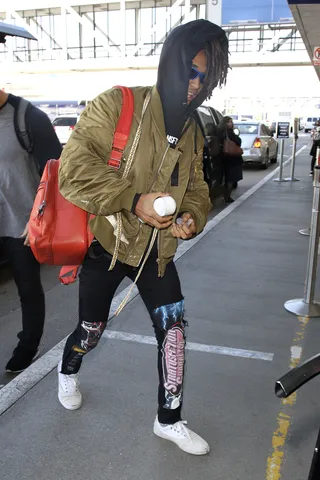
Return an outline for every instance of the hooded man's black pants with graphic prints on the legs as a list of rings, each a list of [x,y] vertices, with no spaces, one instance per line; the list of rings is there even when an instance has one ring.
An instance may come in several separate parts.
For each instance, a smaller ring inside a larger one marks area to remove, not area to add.
[[[184,301],[174,262],[158,277],[157,251],[153,249],[137,282],[150,314],[158,342],[158,416],[161,423],[181,420],[184,374]],[[107,325],[112,298],[124,277],[134,280],[138,269],[116,263],[108,271],[111,255],[94,242],[80,273],[79,323],[69,336],[61,372],[77,373],[83,356],[92,350]]]

